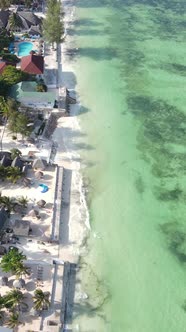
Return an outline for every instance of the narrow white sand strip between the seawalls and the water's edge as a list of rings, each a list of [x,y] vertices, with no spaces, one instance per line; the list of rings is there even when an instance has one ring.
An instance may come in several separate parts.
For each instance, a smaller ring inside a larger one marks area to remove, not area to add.
[[[65,11],[65,28],[67,29],[74,16],[73,2],[63,2],[63,9]],[[70,47],[70,42],[70,36],[66,35],[65,42],[61,47],[61,65],[58,64],[58,68],[62,69],[58,72],[58,85],[59,90],[60,87],[67,87],[73,93],[75,75],[68,56],[66,56],[66,49]],[[54,163],[71,171],[69,241],[60,251],[60,258],[72,263],[78,262],[81,251],[84,251],[83,245],[89,233],[89,214],[80,173],[80,156],[76,147],[77,137],[81,135],[77,118],[78,109],[78,104],[71,105],[71,116],[58,119],[57,128],[51,137],[58,145]]]

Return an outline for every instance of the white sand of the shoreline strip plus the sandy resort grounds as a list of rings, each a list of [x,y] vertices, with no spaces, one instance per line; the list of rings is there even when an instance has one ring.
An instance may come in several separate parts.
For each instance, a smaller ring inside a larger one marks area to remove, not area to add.
[[[63,8],[66,14],[65,25],[67,27],[73,19],[75,9],[70,5],[69,1],[63,3]],[[70,36],[67,35],[65,43],[60,48],[60,54],[58,53],[58,60],[60,63],[56,61],[56,52],[52,51],[49,46],[45,46],[45,49],[47,49],[45,64],[48,72],[50,72],[50,75],[48,75],[47,71],[45,71],[45,79],[46,83],[48,82],[50,88],[56,91],[56,95],[58,92],[60,94],[61,88],[63,87],[67,87],[71,91],[72,95],[75,95],[73,69],[69,63],[68,56],[65,55],[66,48],[70,48],[70,42]],[[52,69],[52,71],[50,71],[50,69]],[[57,89],[55,87],[56,74],[58,84]],[[85,254],[85,240],[89,234],[89,215],[83,191],[83,181],[80,173],[80,156],[77,152],[78,136],[81,136],[81,131],[77,119],[78,108],[78,104],[71,105],[71,116],[59,118],[57,127],[50,137],[50,140],[52,140],[56,146],[56,154],[53,162],[59,167],[64,167],[66,171],[63,184],[60,183],[58,185],[61,185],[63,190],[63,199],[68,199],[70,203],[68,208],[63,207],[62,209],[59,246],[58,244],[50,243],[47,241],[49,235],[51,234],[53,206],[55,204],[54,192],[56,185],[56,171],[54,168],[51,166],[44,171],[44,178],[42,179],[42,182],[47,184],[49,187],[48,192],[45,193],[44,196],[43,194],[39,193],[39,191],[37,191],[40,180],[36,179],[34,172],[31,172],[29,176],[32,180],[31,188],[24,187],[21,185],[21,183],[18,183],[14,186],[10,185],[9,187],[4,186],[1,188],[2,195],[27,197],[29,200],[28,210],[35,208],[36,202],[40,199],[45,199],[48,204],[48,208],[46,207],[44,211],[40,211],[40,220],[37,220],[37,218],[31,217],[27,214],[22,218],[25,220],[29,219],[31,222],[33,235],[39,236],[41,240],[45,242],[45,244],[42,244],[42,242],[37,240],[28,242],[23,238],[21,239],[20,244],[17,245],[20,247],[20,250],[23,250],[24,254],[27,256],[27,262],[29,262],[29,264],[32,266],[32,276],[31,278],[28,277],[28,280],[26,280],[26,287],[24,290],[26,294],[28,291],[32,294],[36,287],[36,266],[39,262],[42,262],[44,267],[43,283],[39,286],[41,286],[44,291],[49,291],[51,294],[52,279],[54,276],[54,267],[52,265],[53,260],[78,263],[80,256]],[[3,130],[3,127],[1,130]],[[41,151],[39,146],[36,148],[35,145],[25,144],[19,135],[18,139],[13,141],[10,139],[10,133],[6,129],[3,137],[3,150],[10,150],[12,148],[19,149],[23,156],[27,156],[30,151],[34,151],[35,156],[42,157],[45,155],[45,157],[48,158],[47,154],[49,152],[47,151],[47,147],[46,149],[42,148]],[[15,218],[13,217],[12,220],[10,220],[10,224],[14,224],[14,219]],[[59,269],[60,268],[63,269],[59,266]],[[63,271],[60,273],[62,275]],[[9,278],[9,283],[13,283],[13,281],[13,277]],[[33,285],[31,285],[31,283],[33,283]],[[31,289],[29,289],[29,287],[31,287]],[[60,305],[60,301],[62,300],[62,280],[57,281],[56,287],[55,301]],[[8,290],[9,287],[5,287],[3,293],[6,293]],[[81,286],[78,285],[78,289],[76,289],[75,294],[75,301],[76,299],[78,301],[78,299],[82,299],[83,297],[86,298],[83,290],[81,290]],[[28,300],[28,303],[31,307],[32,301]],[[48,319],[49,318],[59,320],[58,310],[56,311],[56,314],[51,312],[51,317],[48,317]],[[30,328],[36,330],[40,324],[40,317],[32,317],[30,319],[27,317],[24,326],[21,325],[18,330],[28,331]],[[45,330],[45,323],[43,330]]]

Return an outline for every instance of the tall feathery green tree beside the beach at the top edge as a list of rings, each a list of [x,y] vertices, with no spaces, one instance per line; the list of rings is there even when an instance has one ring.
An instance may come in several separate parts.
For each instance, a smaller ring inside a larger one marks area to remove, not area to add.
[[[63,40],[64,23],[61,19],[61,4],[58,0],[47,1],[47,14],[43,20],[43,36],[46,41],[54,45],[59,44]]]

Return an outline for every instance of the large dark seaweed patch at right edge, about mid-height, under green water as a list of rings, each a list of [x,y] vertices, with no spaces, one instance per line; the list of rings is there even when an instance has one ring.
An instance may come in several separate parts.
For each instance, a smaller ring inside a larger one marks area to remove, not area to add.
[[[148,96],[128,97],[128,107],[141,123],[137,147],[142,158],[150,161],[152,174],[158,178],[185,175],[186,153],[172,151],[171,144],[185,146],[186,115]]]

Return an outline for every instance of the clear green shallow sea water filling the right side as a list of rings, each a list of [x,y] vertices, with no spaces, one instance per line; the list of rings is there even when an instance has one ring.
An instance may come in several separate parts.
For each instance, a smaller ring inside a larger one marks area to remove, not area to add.
[[[80,331],[186,329],[184,1],[76,2],[92,233]]]

